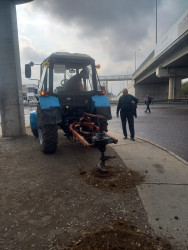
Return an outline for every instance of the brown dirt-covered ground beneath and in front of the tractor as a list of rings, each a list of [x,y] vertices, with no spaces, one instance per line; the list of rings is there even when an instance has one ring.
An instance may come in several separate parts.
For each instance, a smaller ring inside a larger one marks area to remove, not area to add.
[[[150,229],[135,185],[143,180],[107,147],[100,152],[59,134],[55,154],[30,131],[0,140],[0,249],[171,249]]]

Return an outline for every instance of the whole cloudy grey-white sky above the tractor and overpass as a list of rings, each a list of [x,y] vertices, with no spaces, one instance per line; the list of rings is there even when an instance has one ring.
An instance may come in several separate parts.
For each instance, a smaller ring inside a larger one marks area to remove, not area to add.
[[[34,0],[16,9],[22,84],[37,83],[25,78],[24,65],[53,52],[88,54],[99,76],[110,76],[132,74],[155,48],[156,0]],[[158,41],[186,9],[187,0],[157,0]],[[109,82],[109,91],[126,84]]]

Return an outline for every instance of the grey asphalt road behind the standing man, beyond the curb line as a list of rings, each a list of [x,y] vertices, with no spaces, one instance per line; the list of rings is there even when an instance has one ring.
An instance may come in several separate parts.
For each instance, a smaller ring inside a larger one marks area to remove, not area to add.
[[[109,130],[122,131],[120,118],[116,118],[116,106],[111,110],[113,119],[109,121]],[[188,105],[153,104],[151,113],[146,114],[144,110],[145,105],[138,105],[135,135],[188,161]]]

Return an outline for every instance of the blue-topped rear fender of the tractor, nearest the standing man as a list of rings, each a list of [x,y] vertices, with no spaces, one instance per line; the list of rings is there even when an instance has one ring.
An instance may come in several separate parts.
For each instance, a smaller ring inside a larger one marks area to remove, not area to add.
[[[106,95],[94,95],[91,97],[91,112],[103,115],[107,120],[112,119],[110,103]]]

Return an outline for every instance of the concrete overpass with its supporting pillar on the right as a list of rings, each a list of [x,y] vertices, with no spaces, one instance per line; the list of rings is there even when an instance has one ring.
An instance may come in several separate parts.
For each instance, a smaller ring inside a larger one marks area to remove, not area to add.
[[[184,78],[188,78],[188,10],[133,74],[135,95],[179,99]]]

